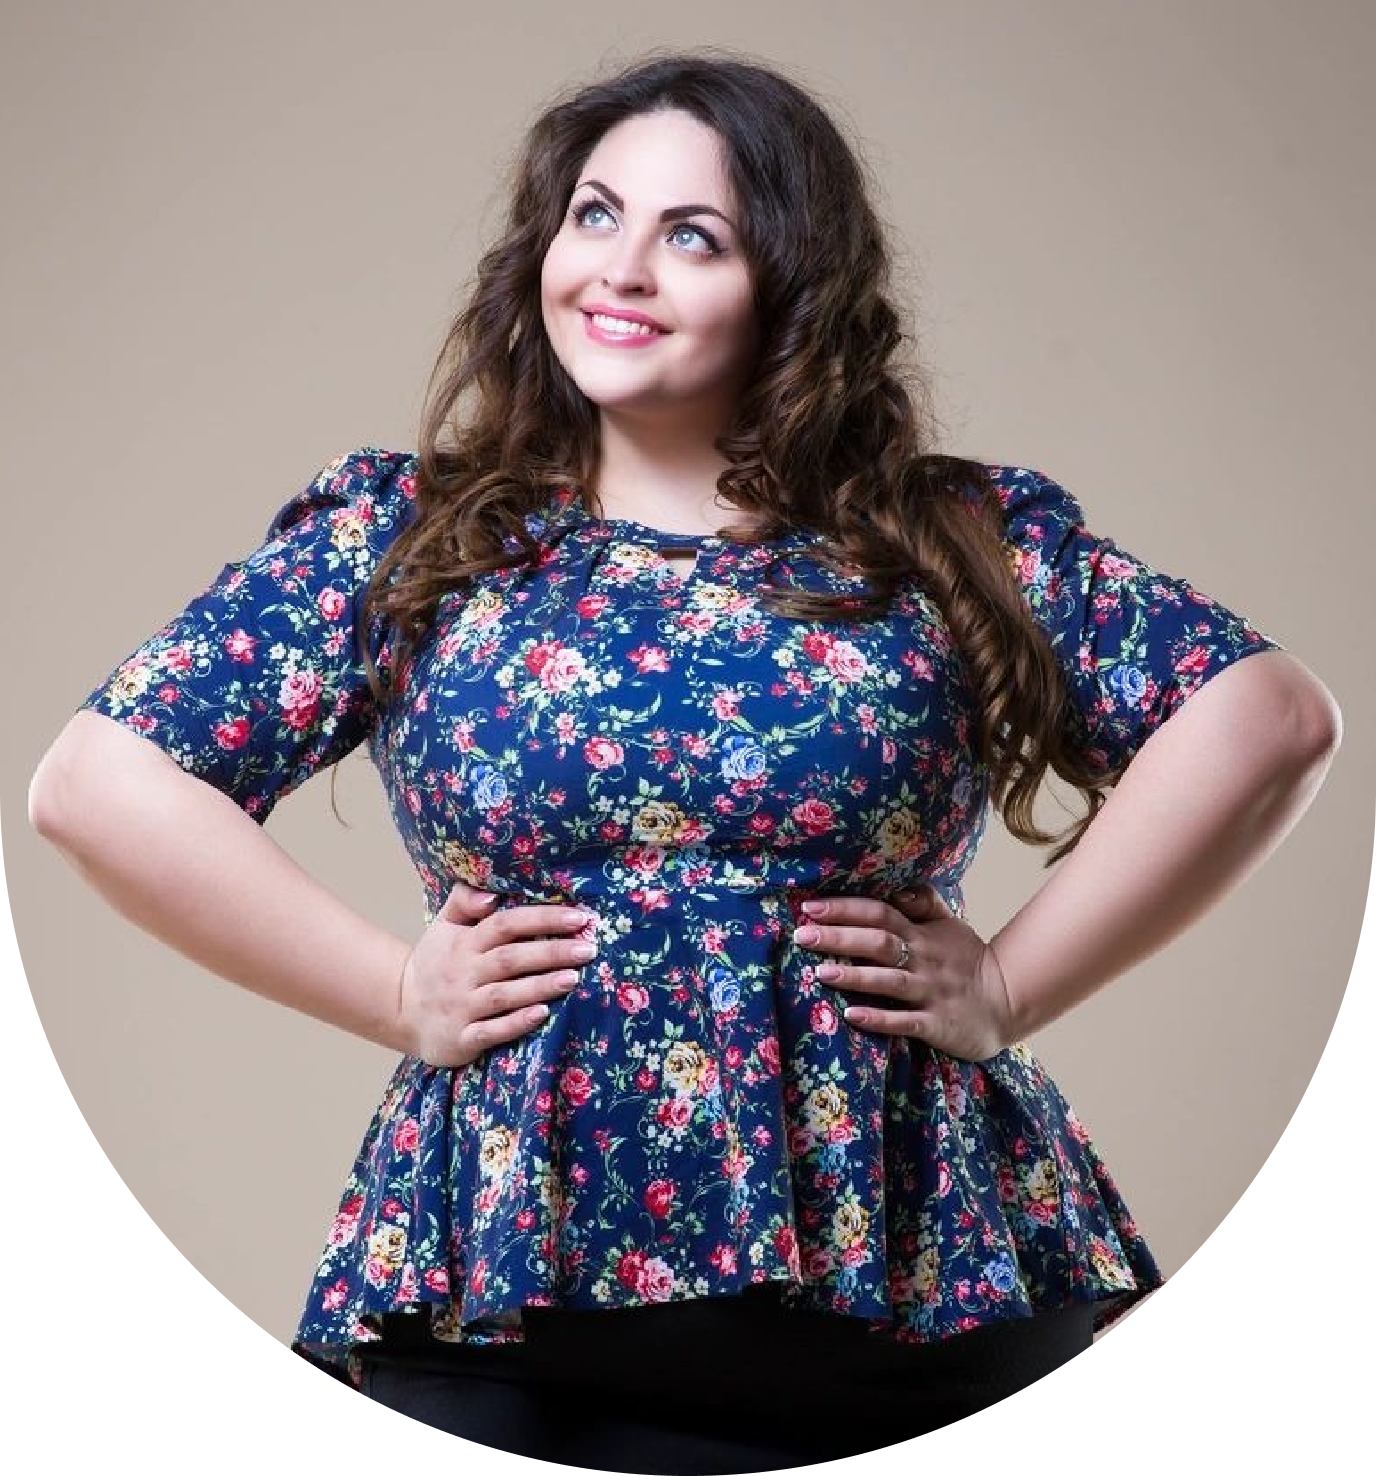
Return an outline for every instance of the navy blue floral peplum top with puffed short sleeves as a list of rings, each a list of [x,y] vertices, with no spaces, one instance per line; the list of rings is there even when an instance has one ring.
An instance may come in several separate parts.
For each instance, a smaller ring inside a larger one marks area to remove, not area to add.
[[[1008,555],[1097,762],[1276,648],[994,466]],[[325,1234],[297,1351],[356,1382],[382,1314],[452,1345],[529,1305],[782,1283],[784,1305],[930,1342],[1070,1300],[1107,1325],[1160,1272],[1026,1045],[970,1063],[842,1015],[799,903],[923,881],[964,915],[989,812],[961,661],[915,577],[881,618],[811,623],[777,583],[862,587],[771,545],[595,520],[565,489],[540,556],[480,576],[374,703],[359,599],[412,515],[415,458],[340,456],[263,545],[83,703],[258,822],[359,744],[427,922],[458,878],[576,902],[599,952],[549,1017],[462,1069],[403,1057]],[[514,542],[514,540],[512,540]],[[685,567],[669,554],[692,546]],[[384,632],[366,632],[385,660]],[[864,998],[859,1002],[865,1002]]]

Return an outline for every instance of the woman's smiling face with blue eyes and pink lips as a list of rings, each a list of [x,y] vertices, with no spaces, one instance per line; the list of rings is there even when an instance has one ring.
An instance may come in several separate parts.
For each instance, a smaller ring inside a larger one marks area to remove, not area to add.
[[[720,139],[687,112],[619,123],[579,170],[540,306],[604,418],[725,428],[757,347],[737,211]]]

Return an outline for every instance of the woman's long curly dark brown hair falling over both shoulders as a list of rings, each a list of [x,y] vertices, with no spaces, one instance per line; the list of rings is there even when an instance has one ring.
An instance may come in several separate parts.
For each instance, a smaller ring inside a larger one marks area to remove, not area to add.
[[[762,583],[762,604],[790,618],[862,620],[917,573],[983,714],[976,741],[991,801],[1020,840],[1062,843],[1051,865],[1078,843],[1116,775],[1090,768],[1076,748],[1066,682],[1013,579],[985,465],[935,449],[932,393],[905,359],[909,335],[890,300],[892,261],[865,167],[805,87],[740,53],[651,52],[571,87],[530,128],[500,239],[431,372],[415,517],[379,561],[360,626],[391,621],[394,679],[441,595],[537,556],[524,518],[551,490],[570,487],[595,511],[598,412],[546,337],[540,270],[598,140],[660,109],[716,131],[741,205],[760,347],[753,384],[716,441],[729,461],[718,492],[747,515],[726,534],[751,542],[818,530],[818,556],[849,565],[868,587],[858,598]],[[385,701],[387,682],[366,651],[365,660]],[[1088,806],[1060,832],[1033,821],[1048,769]]]

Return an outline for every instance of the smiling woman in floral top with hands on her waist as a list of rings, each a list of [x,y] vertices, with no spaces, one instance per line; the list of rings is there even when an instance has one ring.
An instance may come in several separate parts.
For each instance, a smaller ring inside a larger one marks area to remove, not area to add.
[[[297,1348],[427,1424],[812,1464],[1160,1284],[1022,1041],[1279,844],[1339,713],[1051,477],[938,455],[886,292],[790,80],[670,55],[571,92],[416,455],[323,468],[34,776],[127,917],[400,1052]],[[261,828],[362,742],[418,940]],[[1085,797],[1059,837],[1048,773]],[[983,939],[991,807],[1059,865]]]

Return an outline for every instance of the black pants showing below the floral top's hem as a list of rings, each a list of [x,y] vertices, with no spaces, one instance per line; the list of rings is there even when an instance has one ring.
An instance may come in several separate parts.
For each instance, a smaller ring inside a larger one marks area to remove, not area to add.
[[[942,1343],[787,1311],[775,1287],[650,1308],[527,1308],[526,1343],[437,1348],[412,1318],[362,1351],[363,1393],[477,1445],[583,1470],[709,1476],[921,1449],[1093,1343],[1088,1303]]]

